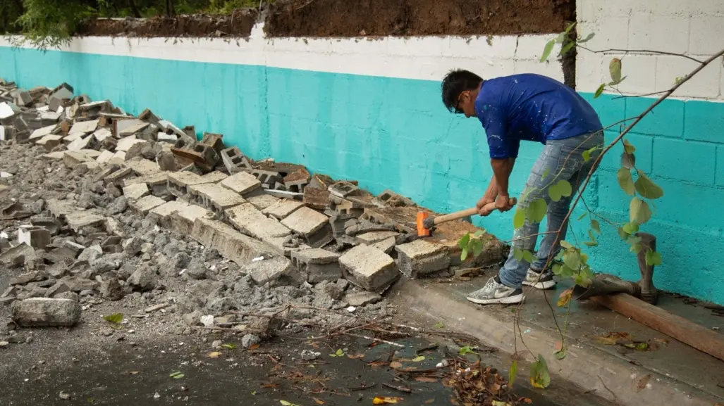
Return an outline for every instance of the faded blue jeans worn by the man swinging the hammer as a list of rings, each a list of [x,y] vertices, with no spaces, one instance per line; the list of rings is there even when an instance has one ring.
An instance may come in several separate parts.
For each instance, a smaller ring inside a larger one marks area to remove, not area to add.
[[[571,201],[573,197],[576,196],[578,187],[581,186],[581,182],[586,179],[586,175],[589,173],[589,170],[591,170],[600,150],[593,152],[591,159],[586,162],[584,162],[584,152],[592,147],[602,146],[603,131],[547,141],[543,152],[533,165],[531,175],[526,182],[526,191],[531,189],[533,191],[531,191],[525,199],[523,199],[523,196],[521,196],[521,199],[518,199],[518,208],[526,209],[530,202],[537,199],[545,199],[548,205],[547,231],[555,232],[558,230],[558,228],[563,225],[563,219],[565,215],[568,214]],[[544,173],[546,174],[545,178],[543,178]],[[548,194],[548,186],[562,179],[571,183],[573,193],[571,193],[571,196],[564,196],[559,201],[553,202]],[[525,191],[523,191],[523,193],[525,193]],[[516,210],[516,208],[513,210]],[[514,248],[531,252],[534,251],[536,241],[538,240],[536,234],[538,233],[539,227],[539,223],[529,223],[529,221],[526,220],[523,227],[515,230],[508,260],[505,261],[505,265],[503,265],[498,274],[500,282],[502,282],[503,285],[509,288],[521,288],[529,267],[541,271],[548,262],[549,253],[551,259],[558,254],[560,250],[559,242],[565,239],[568,224],[563,225],[563,232],[560,233],[560,238],[557,238],[558,236],[555,233],[545,234],[533,264],[529,264],[525,259],[521,259],[520,261],[515,259],[515,256],[513,256]],[[524,238],[525,236],[530,237]]]

